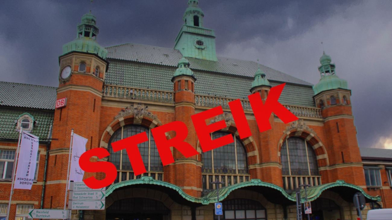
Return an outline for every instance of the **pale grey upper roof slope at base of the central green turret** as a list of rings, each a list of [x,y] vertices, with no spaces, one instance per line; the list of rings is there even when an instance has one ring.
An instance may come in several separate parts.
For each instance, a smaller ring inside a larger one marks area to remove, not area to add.
[[[136,61],[142,63],[151,63],[157,65],[165,65],[177,67],[178,61],[182,58],[179,50],[164,47],[155,47],[150,45],[141,45],[135,43],[126,43],[107,47],[107,58],[117,60]],[[247,76],[254,78],[254,73],[258,68],[258,63],[254,61],[238,60],[218,56],[218,61],[202,60],[187,57],[192,70],[203,70],[209,72],[219,72],[223,74],[232,74],[237,76]],[[111,66],[109,65],[109,68]],[[260,65],[260,69],[267,74],[268,80],[295,83],[300,85],[313,84],[297,79],[293,76],[271,69],[264,65]],[[197,76],[196,76],[197,78]],[[250,87],[250,86],[249,86]]]

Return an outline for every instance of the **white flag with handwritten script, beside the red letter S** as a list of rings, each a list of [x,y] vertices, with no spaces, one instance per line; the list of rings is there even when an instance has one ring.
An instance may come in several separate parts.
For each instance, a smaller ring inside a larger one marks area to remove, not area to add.
[[[82,153],[86,152],[87,139],[77,134],[73,134],[72,153],[71,153],[71,170],[69,171],[69,181],[82,182],[84,171],[79,166],[79,158]],[[68,183],[69,189],[69,183]]]

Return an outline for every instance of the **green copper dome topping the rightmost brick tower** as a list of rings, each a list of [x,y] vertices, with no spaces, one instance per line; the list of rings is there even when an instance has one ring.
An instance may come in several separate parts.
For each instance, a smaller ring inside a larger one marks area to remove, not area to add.
[[[323,56],[320,57],[320,63],[321,66],[319,66],[318,69],[321,79],[316,85],[313,86],[315,95],[331,89],[348,89],[347,81],[336,76],[335,64],[331,63],[331,57],[326,55],[325,52],[323,52]]]

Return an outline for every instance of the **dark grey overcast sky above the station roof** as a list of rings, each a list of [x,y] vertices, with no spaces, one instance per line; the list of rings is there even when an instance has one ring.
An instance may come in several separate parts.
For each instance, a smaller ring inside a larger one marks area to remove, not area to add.
[[[316,84],[325,52],[352,90],[359,147],[392,149],[392,1],[199,0],[218,56],[260,63]],[[62,45],[89,0],[2,1],[0,81],[58,86]],[[104,47],[174,47],[187,0],[94,0]]]

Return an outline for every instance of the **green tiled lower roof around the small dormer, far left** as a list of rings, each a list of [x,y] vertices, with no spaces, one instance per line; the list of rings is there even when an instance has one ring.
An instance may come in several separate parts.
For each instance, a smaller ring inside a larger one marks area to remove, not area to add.
[[[33,126],[31,134],[47,139],[51,125],[53,124],[54,111],[15,110],[0,108],[0,138],[18,139],[19,132],[16,131],[15,120],[19,115],[29,113],[37,122]]]

